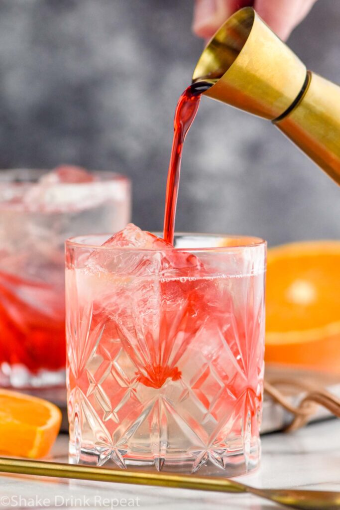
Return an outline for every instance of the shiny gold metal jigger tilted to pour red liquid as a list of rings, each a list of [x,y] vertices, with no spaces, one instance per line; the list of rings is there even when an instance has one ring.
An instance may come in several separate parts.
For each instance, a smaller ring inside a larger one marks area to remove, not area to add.
[[[204,49],[193,82],[203,94],[271,120],[340,184],[340,87],[306,70],[251,7],[231,16]]]

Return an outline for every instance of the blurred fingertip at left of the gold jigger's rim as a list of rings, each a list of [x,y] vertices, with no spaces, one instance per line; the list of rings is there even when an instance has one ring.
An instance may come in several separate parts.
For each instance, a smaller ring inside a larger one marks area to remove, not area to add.
[[[210,39],[231,14],[252,4],[250,0],[195,0],[192,30]]]

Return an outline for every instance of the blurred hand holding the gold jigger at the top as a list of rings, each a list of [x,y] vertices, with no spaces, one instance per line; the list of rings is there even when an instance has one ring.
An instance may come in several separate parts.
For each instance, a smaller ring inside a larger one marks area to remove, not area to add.
[[[193,31],[210,39],[220,25],[238,9],[253,6],[283,40],[308,14],[317,0],[195,0]]]

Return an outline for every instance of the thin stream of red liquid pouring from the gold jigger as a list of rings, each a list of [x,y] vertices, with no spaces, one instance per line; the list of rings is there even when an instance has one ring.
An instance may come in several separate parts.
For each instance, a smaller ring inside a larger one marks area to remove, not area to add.
[[[174,239],[180,161],[183,144],[190,126],[196,117],[201,94],[210,86],[210,84],[206,84],[205,82],[203,82],[203,87],[201,84],[199,87],[197,84],[190,85],[179,97],[175,110],[174,135],[168,170],[163,231],[164,240],[171,244],[173,244]]]

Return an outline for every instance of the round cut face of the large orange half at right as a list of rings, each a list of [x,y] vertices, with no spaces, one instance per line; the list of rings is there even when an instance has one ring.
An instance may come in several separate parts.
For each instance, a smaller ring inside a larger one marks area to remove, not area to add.
[[[339,243],[340,245],[340,243]],[[267,331],[340,320],[340,251],[275,260],[267,272]]]

